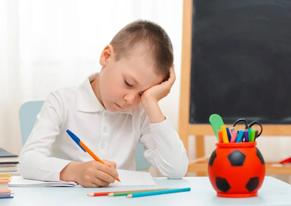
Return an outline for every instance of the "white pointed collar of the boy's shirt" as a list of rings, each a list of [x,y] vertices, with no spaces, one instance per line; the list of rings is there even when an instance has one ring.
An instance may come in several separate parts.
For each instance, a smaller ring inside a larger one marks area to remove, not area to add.
[[[97,112],[106,110],[95,95],[91,82],[97,78],[99,73],[90,75],[77,89],[77,110],[83,112]],[[132,109],[119,111],[132,115]]]

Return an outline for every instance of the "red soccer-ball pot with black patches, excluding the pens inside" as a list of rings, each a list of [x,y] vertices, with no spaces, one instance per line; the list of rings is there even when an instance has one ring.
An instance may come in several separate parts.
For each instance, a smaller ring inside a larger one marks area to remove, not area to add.
[[[218,197],[258,196],[265,161],[257,142],[216,143],[208,162],[208,175]]]

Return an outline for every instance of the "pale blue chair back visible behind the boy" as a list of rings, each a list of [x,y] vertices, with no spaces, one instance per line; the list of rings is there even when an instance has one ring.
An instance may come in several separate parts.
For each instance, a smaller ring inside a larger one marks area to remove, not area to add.
[[[43,103],[43,100],[28,101],[22,104],[19,109],[22,146],[24,146],[30,133],[32,132],[32,128],[34,127],[36,121],[36,116],[41,111]],[[144,146],[142,144],[138,145],[138,149],[135,153],[135,159],[136,170],[146,170],[151,166],[147,159],[144,157]]]

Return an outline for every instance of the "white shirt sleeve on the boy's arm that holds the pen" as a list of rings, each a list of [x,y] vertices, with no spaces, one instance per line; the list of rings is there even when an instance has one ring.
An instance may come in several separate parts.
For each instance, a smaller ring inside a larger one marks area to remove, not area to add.
[[[51,93],[19,156],[19,171],[23,178],[60,181],[60,172],[70,162],[51,157],[51,148],[64,118],[64,106],[58,93]]]

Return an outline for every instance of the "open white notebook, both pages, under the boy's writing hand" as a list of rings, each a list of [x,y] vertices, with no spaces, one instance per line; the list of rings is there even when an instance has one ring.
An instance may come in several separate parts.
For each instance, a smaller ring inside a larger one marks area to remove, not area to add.
[[[152,176],[146,172],[118,170],[121,182],[115,181],[107,187],[156,186]],[[21,176],[12,176],[9,187],[82,187],[76,182],[47,182],[23,179]]]

